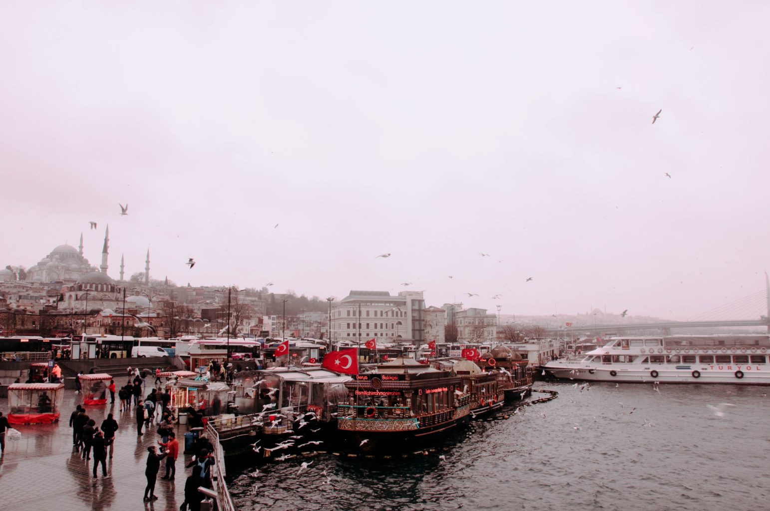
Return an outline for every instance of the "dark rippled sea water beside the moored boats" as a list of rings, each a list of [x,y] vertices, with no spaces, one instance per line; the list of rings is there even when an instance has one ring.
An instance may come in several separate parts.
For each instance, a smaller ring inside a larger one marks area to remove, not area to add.
[[[535,388],[560,393],[510,419],[473,422],[428,456],[300,456],[259,466],[261,476],[229,473],[231,492],[239,511],[770,509],[770,388]],[[734,406],[719,417],[707,407],[719,403]],[[303,461],[313,463],[298,473]]]

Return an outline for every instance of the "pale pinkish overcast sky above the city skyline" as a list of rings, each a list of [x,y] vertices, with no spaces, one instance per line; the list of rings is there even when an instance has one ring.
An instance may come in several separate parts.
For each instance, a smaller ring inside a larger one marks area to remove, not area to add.
[[[180,285],[686,319],[764,288],[768,22],[700,0],[2,2],[0,263],[83,232],[98,266],[109,223],[115,279],[149,247]]]

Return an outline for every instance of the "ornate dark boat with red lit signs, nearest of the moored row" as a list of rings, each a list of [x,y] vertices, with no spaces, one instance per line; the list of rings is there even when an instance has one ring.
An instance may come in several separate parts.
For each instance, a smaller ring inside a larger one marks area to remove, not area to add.
[[[470,393],[460,376],[397,358],[346,382],[337,405],[343,446],[360,453],[423,449],[431,439],[470,421]]]

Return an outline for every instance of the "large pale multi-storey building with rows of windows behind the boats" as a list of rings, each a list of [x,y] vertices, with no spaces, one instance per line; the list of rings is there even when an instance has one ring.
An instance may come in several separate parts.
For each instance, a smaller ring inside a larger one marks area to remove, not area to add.
[[[351,291],[332,304],[332,332],[335,341],[394,342],[425,340],[421,291],[402,291],[391,296],[387,291]]]

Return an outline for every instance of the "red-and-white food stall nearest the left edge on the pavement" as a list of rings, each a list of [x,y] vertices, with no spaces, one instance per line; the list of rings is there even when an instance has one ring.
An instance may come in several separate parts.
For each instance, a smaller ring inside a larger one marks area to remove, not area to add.
[[[8,386],[8,423],[56,422],[62,399],[64,383],[12,383]]]

